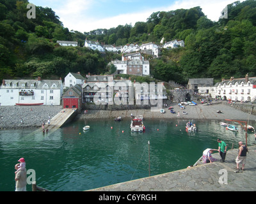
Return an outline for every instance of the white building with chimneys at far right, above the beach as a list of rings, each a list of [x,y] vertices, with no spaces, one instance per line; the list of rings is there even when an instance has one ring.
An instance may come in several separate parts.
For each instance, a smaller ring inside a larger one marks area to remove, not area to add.
[[[215,85],[216,97],[231,101],[255,101],[256,77],[223,79]],[[214,97],[213,97],[214,98]]]

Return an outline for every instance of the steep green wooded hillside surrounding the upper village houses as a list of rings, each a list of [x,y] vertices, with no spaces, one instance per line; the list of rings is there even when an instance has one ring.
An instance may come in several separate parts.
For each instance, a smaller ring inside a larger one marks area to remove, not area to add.
[[[159,80],[186,84],[188,78],[256,76],[256,1],[228,5],[228,18],[209,20],[198,6],[188,10],[157,11],[147,22],[118,25],[89,33],[69,31],[51,8],[36,6],[27,18],[26,0],[0,0],[0,77],[65,77],[69,71],[105,73],[111,58],[83,48],[85,38],[99,43],[159,43],[162,38],[185,41],[185,48],[162,50],[150,60],[150,73]],[[60,47],[57,40],[77,41],[79,47]]]

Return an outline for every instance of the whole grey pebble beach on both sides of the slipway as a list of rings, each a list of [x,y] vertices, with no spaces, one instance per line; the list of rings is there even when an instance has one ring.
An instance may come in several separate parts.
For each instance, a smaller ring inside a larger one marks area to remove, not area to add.
[[[232,108],[232,106],[223,103],[213,103],[212,105],[185,106],[184,111],[188,115],[182,114],[177,103],[170,104],[176,113],[171,113],[168,108],[164,108],[165,113],[150,109],[136,110],[88,110],[86,114],[82,111],[77,115],[77,119],[93,120],[93,119],[115,119],[121,116],[122,119],[131,119],[132,115],[143,115],[145,119],[173,119],[173,120],[256,120],[255,115],[242,112]],[[169,106],[170,106],[169,105]],[[168,106],[168,107],[169,107]],[[0,106],[0,129],[19,129],[19,128],[39,128],[42,122],[47,124],[50,119],[57,113],[61,112],[62,106]],[[222,113],[217,113],[221,110]],[[179,112],[179,115],[178,115]],[[21,122],[22,120],[22,122]]]

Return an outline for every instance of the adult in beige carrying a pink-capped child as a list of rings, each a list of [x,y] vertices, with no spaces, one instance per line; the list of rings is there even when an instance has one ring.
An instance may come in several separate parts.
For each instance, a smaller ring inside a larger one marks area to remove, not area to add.
[[[27,170],[26,168],[19,170],[20,164],[15,164],[15,191],[26,191],[27,185]]]

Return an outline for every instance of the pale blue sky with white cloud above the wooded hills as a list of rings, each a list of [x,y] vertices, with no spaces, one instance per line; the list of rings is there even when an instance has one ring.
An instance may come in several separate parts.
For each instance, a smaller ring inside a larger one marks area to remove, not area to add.
[[[236,0],[29,0],[49,7],[69,31],[81,33],[109,29],[118,25],[146,22],[157,11],[172,11],[200,6],[207,18],[218,21],[227,4]],[[243,2],[243,1],[241,1]]]

